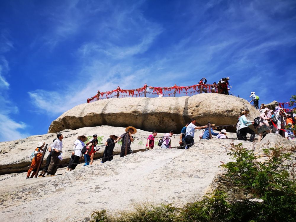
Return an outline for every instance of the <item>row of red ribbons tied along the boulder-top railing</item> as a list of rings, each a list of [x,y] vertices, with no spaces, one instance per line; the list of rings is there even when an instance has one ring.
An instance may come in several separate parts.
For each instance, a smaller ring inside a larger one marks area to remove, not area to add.
[[[140,96],[140,95],[144,94],[145,89],[149,90],[149,91],[146,90],[146,93],[149,93],[149,94],[162,94],[162,95],[169,95],[170,96],[170,95],[174,95],[175,93],[178,93],[178,94],[188,95],[188,93],[190,93],[190,94],[198,93],[199,92],[198,90],[200,90],[200,89],[206,89],[207,92],[210,92],[212,86],[213,85],[211,85],[211,84],[196,84],[193,86],[177,86],[175,84],[174,86],[171,86],[171,87],[153,87],[153,86],[147,86],[145,84],[143,87],[138,88],[138,89],[120,89],[120,87],[118,86],[117,89],[113,89],[111,91],[107,91],[107,92],[99,92],[98,91],[98,94],[87,99],[87,102],[89,103],[89,102],[93,101],[94,99],[96,99],[96,100],[109,99],[109,98],[118,96],[118,95],[109,96],[109,95],[112,95],[113,93],[117,93],[117,94],[124,93],[125,95],[119,94],[119,96],[122,96],[122,97],[124,97],[124,96],[125,97],[126,96]],[[189,89],[193,89],[194,91],[188,92]],[[172,90],[174,90],[174,93],[167,93],[167,94],[164,93],[166,91],[172,91]],[[185,92],[183,92],[184,90],[185,90]],[[217,92],[217,89],[215,91]],[[106,96],[105,98],[103,98],[104,95]]]

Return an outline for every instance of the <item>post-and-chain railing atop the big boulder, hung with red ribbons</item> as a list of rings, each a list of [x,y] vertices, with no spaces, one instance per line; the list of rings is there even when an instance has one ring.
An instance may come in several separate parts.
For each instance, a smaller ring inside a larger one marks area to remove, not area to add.
[[[192,89],[192,91],[189,91]],[[168,92],[168,93],[165,93]],[[144,95],[144,97],[147,96],[147,94],[151,95],[161,95],[161,96],[174,96],[176,97],[176,94],[184,94],[188,96],[188,94],[199,94],[199,93],[218,93],[217,86],[213,86],[212,84],[196,84],[192,86],[177,86],[176,84],[171,87],[153,87],[148,86],[145,84],[143,87],[138,89],[120,89],[118,86],[117,89],[113,89],[111,91],[107,92],[100,92],[93,97],[87,99],[87,103],[101,100],[101,99],[110,99],[113,97],[119,98],[121,97],[127,97],[127,96],[136,96],[141,97]],[[105,97],[103,97],[105,96]]]

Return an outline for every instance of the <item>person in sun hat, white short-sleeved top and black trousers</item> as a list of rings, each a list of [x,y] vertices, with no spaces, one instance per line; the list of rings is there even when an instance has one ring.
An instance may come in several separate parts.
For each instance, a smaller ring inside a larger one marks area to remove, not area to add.
[[[84,142],[87,141],[87,137],[82,135],[82,136],[78,136],[76,141],[74,142],[74,146],[73,149],[75,149],[75,151],[72,152],[72,156],[70,158],[70,162],[69,165],[67,167],[67,172],[70,170],[75,170],[79,159],[82,157],[82,153],[81,150],[83,149],[83,147],[85,146]]]

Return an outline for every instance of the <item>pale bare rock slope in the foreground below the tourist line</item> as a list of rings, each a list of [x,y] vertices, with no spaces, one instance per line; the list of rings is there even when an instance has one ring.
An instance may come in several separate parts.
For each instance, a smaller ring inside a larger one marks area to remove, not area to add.
[[[233,142],[249,149],[254,145]],[[220,161],[229,161],[225,146],[230,143],[212,139],[188,150],[156,148],[104,164],[78,165],[66,174],[59,169],[63,174],[56,177],[19,174],[0,183],[1,221],[89,221],[93,211],[133,210],[133,204],[143,202],[181,207],[207,192]]]

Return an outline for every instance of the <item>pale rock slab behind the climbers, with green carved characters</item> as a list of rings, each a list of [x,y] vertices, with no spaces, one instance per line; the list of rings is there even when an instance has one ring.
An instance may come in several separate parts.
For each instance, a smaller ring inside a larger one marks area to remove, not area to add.
[[[112,126],[97,126],[97,127],[84,127],[77,130],[64,130],[60,133],[63,134],[63,150],[72,150],[75,140],[78,135],[86,135],[89,137],[89,140],[93,139],[95,133],[98,135],[100,150],[96,152],[94,158],[101,158],[103,156],[103,152],[105,149],[105,141],[109,138],[110,135],[114,134],[117,136],[125,133],[125,128],[122,127],[112,127]],[[145,149],[147,139],[144,137],[148,137],[151,133],[143,130],[137,130],[137,133],[134,134],[134,137],[142,137],[142,139],[135,139],[131,145],[132,150],[143,150]],[[44,135],[36,135],[30,136],[25,139],[9,141],[9,142],[1,142],[0,143],[0,175],[6,173],[15,173],[22,172],[22,170],[28,170],[28,166],[31,164],[30,158],[25,160],[21,160],[25,157],[29,157],[38,142],[42,141],[48,144],[52,144],[53,139],[56,137],[57,133],[47,133]],[[163,133],[159,133],[158,136],[162,136]],[[179,137],[173,137],[172,146],[178,146]],[[157,140],[157,139],[156,139]],[[158,141],[158,140],[157,140]],[[157,144],[155,144],[157,146]],[[115,145],[114,155],[120,154],[121,143]],[[72,151],[63,152],[63,161],[61,164],[69,163]],[[48,156],[49,152],[46,152],[44,156],[44,160]],[[9,163],[15,162],[17,160],[21,160],[20,162],[7,165]],[[84,159],[81,159],[83,162]],[[46,161],[44,161],[44,164]]]

